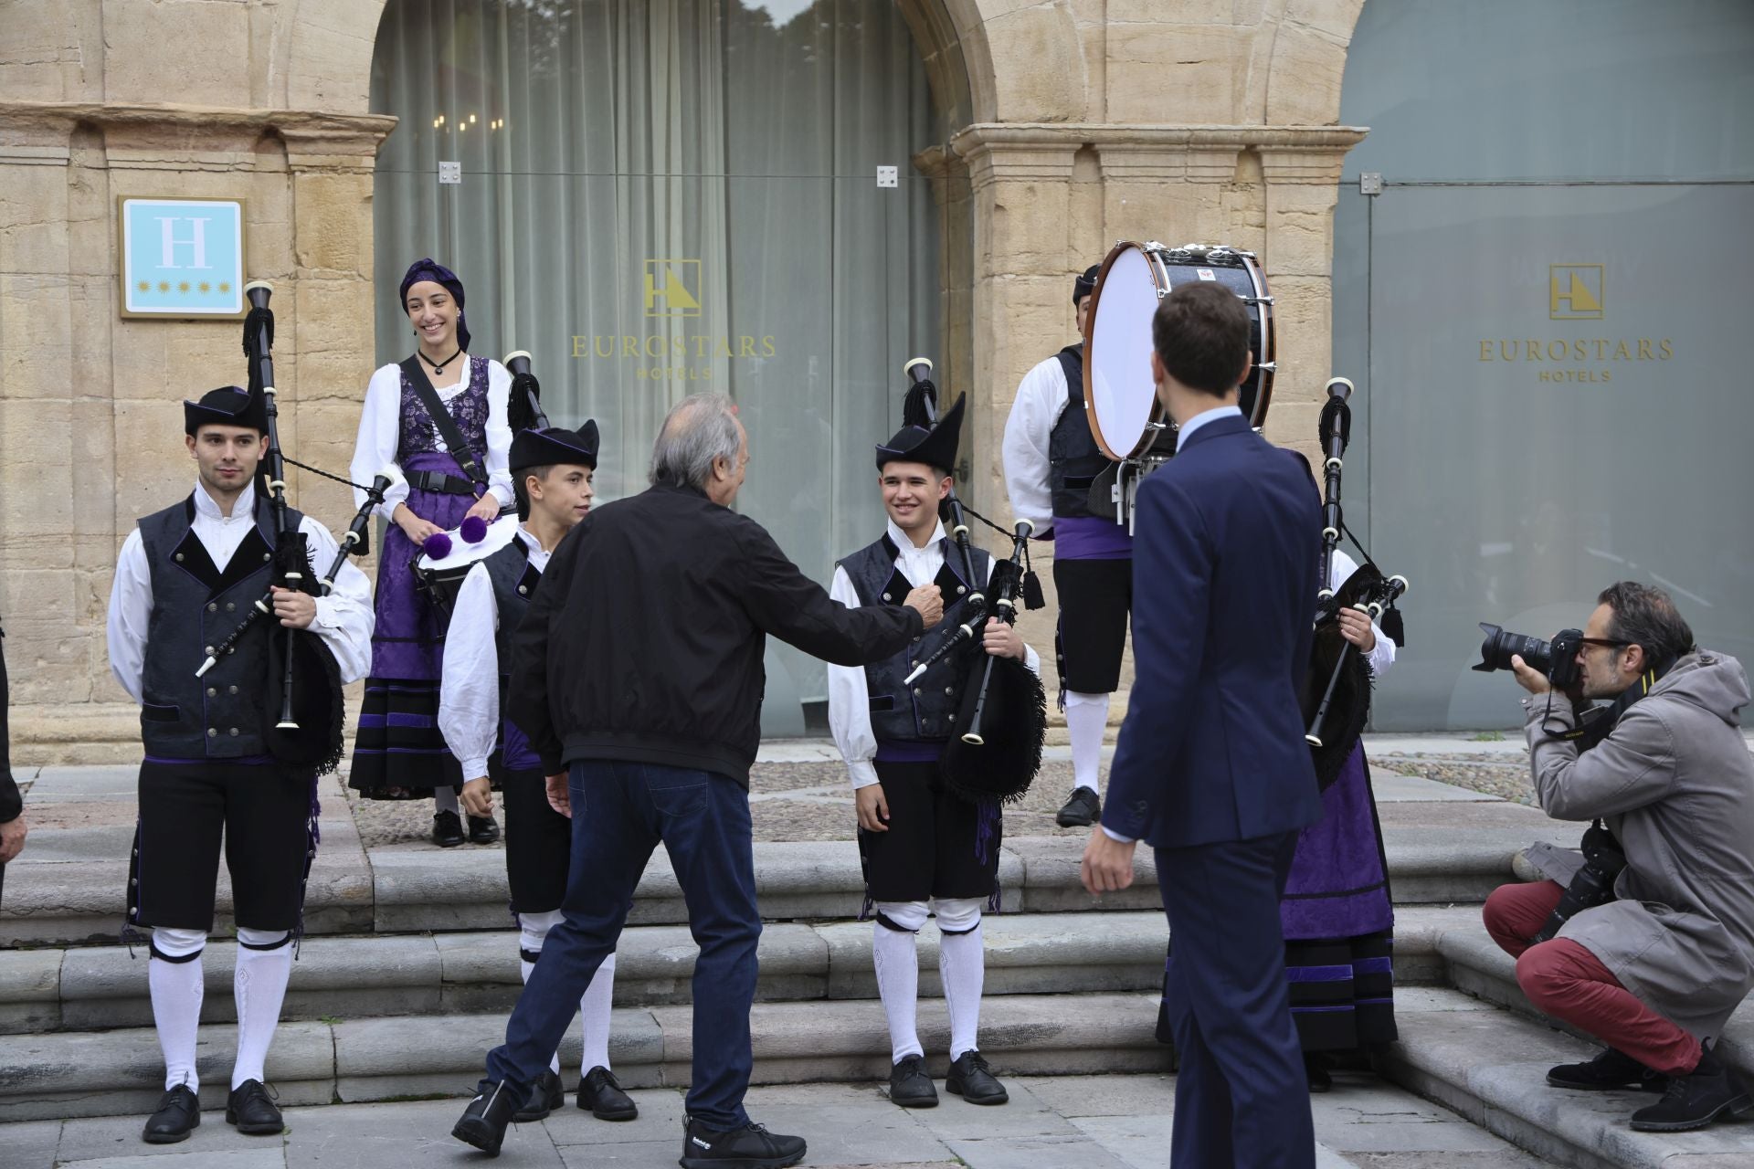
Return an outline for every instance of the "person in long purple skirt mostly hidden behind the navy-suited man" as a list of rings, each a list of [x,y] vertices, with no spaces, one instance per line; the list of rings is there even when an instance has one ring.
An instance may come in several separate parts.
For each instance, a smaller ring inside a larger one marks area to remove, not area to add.
[[[1338,589],[1354,571],[1352,557],[1335,550],[1328,585]],[[1340,636],[1365,655],[1373,680],[1394,664],[1394,641],[1363,613],[1340,610]],[[1396,1036],[1394,903],[1363,740],[1323,790],[1321,820],[1298,836],[1279,918],[1310,1092],[1326,1092],[1335,1053]]]

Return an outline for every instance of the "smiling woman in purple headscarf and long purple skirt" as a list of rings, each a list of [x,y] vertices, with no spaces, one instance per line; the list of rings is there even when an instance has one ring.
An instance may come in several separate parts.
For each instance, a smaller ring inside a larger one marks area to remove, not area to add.
[[[512,498],[505,400],[510,373],[468,354],[463,282],[431,259],[402,277],[400,303],[414,352],[372,375],[360,415],[353,480],[395,478],[379,515],[389,535],[377,561],[377,631],[365,680],[349,783],[367,799],[433,799],[440,847],[500,838],[491,815],[458,815],[463,771],[438,729],[446,613],[417,587],[414,557],[435,533],[465,517],[493,522]],[[354,491],[354,503],[365,494]]]

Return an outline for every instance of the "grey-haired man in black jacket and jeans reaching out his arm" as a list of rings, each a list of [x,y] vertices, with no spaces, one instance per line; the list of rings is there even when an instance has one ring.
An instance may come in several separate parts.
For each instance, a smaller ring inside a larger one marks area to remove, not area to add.
[[[652,447],[651,487],[593,510],[561,540],[512,636],[507,712],[542,759],[549,801],[579,815],[563,920],[451,1130],[488,1153],[614,952],[663,841],[700,945],[682,1165],[782,1169],[803,1158],[802,1137],[772,1134],[744,1111],[761,936],[747,789],[766,634],[861,666],[935,626],[944,601],[935,585],[902,608],[830,599],[730,508],[747,466],[749,436],[730,398],[681,401]]]

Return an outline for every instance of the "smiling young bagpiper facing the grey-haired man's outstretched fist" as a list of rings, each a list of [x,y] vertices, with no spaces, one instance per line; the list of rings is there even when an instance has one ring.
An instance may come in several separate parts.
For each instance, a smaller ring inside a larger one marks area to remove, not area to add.
[[[905,424],[877,447],[877,484],[889,522],[875,543],[835,568],[830,596],[842,605],[902,605],[914,592],[937,589],[944,598],[944,627],[966,620],[975,582],[963,578],[961,556],[938,519],[938,505],[952,485],[949,468],[956,464],[963,401],[935,428],[916,419],[919,424]],[[993,557],[977,549],[973,571],[984,585]],[[986,976],[980,908],[998,889],[1000,811],[996,803],[977,806],[951,794],[938,757],[982,650],[1021,659],[1033,671],[1040,662],[1014,626],[989,619],[982,645],[970,641],[912,685],[903,684],[930,645],[912,645],[873,666],[830,666],[828,724],[852,778],[865,896],[875,910],[872,960],[889,1017],[889,1099],[905,1108],[938,1102],[914,1024],[916,934],[926,924],[930,901],[938,918],[938,974],[951,1015],[945,1088],[970,1104],[1003,1104],[1005,1087],[975,1041]]]

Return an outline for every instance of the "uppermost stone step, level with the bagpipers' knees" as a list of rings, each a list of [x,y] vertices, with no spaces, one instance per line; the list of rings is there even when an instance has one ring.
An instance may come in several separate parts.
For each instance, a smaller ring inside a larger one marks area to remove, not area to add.
[[[339,797],[324,808],[337,804]],[[1501,801],[1382,804],[1382,818],[1400,904],[1482,901],[1514,878],[1519,850],[1545,838],[1547,824],[1540,813]],[[305,897],[307,934],[442,932],[510,924],[500,848],[365,850],[344,811],[324,818],[321,827],[323,847]],[[114,943],[125,913],[132,832],[132,825],[121,824],[33,832],[26,852],[9,866],[0,938],[25,945]],[[1151,850],[1138,852],[1133,887],[1103,897],[1091,897],[1079,885],[1082,852],[1084,840],[1077,836],[1007,840],[1000,854],[1003,908],[1065,913],[1159,906]],[[768,920],[847,918],[859,910],[865,883],[851,841],[758,841],[754,861],[761,913]],[[219,932],[230,931],[230,911],[232,887],[221,866]],[[660,850],[640,880],[630,924],[686,920],[681,887]]]

